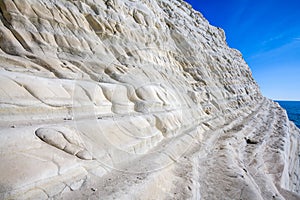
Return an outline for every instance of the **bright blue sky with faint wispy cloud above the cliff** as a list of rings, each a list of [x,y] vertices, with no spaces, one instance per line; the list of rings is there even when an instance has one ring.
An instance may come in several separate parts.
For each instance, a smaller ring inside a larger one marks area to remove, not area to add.
[[[300,0],[186,0],[240,50],[264,96],[300,100]]]

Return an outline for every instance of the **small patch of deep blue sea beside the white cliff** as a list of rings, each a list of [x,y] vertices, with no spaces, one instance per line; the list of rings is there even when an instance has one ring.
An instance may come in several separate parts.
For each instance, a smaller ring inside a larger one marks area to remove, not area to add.
[[[276,101],[286,109],[289,119],[300,128],[300,101]]]

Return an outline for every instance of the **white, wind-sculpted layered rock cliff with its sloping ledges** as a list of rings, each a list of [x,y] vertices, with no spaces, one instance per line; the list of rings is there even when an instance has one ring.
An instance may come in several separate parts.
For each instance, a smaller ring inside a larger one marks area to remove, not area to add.
[[[0,9],[1,199],[299,198],[299,129],[184,1]]]

